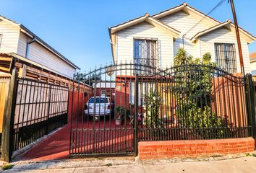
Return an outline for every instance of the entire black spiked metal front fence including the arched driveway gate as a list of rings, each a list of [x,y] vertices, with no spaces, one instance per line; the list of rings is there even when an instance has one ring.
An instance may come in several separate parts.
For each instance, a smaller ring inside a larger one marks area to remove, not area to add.
[[[74,79],[93,94],[72,98],[81,105],[72,107],[71,156],[137,154],[139,141],[253,136],[249,76],[200,64],[123,63]]]

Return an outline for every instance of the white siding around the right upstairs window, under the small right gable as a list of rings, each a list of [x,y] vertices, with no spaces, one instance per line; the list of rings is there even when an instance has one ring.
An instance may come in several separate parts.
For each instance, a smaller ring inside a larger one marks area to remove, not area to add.
[[[227,30],[226,28],[219,28],[218,30],[214,30],[213,32],[208,33],[207,35],[202,35],[200,37],[200,48],[201,48],[201,55],[204,53],[210,52],[212,55],[212,61],[216,61],[215,57],[215,48],[214,43],[234,43],[236,48],[236,64],[237,64],[237,71],[240,71],[240,63],[239,63],[239,52],[236,43],[236,34]],[[242,44],[242,53],[244,58],[244,70],[245,73],[250,72],[249,67],[249,50],[248,45],[244,39],[241,38]]]

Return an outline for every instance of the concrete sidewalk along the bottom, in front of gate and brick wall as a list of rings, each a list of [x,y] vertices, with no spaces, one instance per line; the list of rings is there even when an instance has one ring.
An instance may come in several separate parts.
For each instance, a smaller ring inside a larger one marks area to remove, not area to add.
[[[247,156],[225,160],[212,158],[207,161],[202,161],[202,159],[135,161],[132,158],[115,158],[18,162],[12,169],[4,172],[256,172],[256,157]]]

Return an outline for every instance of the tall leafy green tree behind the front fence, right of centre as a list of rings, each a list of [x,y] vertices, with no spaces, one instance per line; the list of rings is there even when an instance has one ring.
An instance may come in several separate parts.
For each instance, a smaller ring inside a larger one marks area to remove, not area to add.
[[[182,128],[195,128],[202,138],[212,135],[221,138],[223,130],[217,128],[223,127],[224,120],[211,110],[213,67],[216,63],[210,59],[210,53],[205,53],[202,60],[194,59],[179,48],[174,58],[175,84],[172,91],[176,99],[178,123]]]

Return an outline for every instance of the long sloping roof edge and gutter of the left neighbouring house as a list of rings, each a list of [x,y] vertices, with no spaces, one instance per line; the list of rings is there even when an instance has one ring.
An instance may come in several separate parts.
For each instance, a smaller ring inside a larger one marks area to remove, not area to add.
[[[46,49],[50,50],[52,53],[54,53],[56,56],[58,56],[59,58],[61,58],[62,60],[66,61],[67,63],[69,63],[70,66],[73,66],[74,68],[77,68],[80,70],[80,68],[75,65],[74,63],[72,63],[72,61],[69,61],[68,58],[64,57],[61,53],[59,53],[57,50],[55,50],[54,48],[51,47],[51,45],[48,45],[46,42],[44,42],[42,39],[40,39],[40,37],[38,37],[37,35],[35,35],[33,32],[31,32],[30,30],[27,29],[27,27],[25,27],[22,24],[19,24],[17,22],[14,22],[11,19],[7,19],[7,17],[1,16],[0,15],[0,21],[4,20],[6,22],[11,23],[12,25],[16,25],[17,27],[20,27],[20,31],[24,32],[27,36],[31,37],[31,38],[36,38],[36,42],[39,43],[40,45],[42,45],[43,47],[45,47]]]

